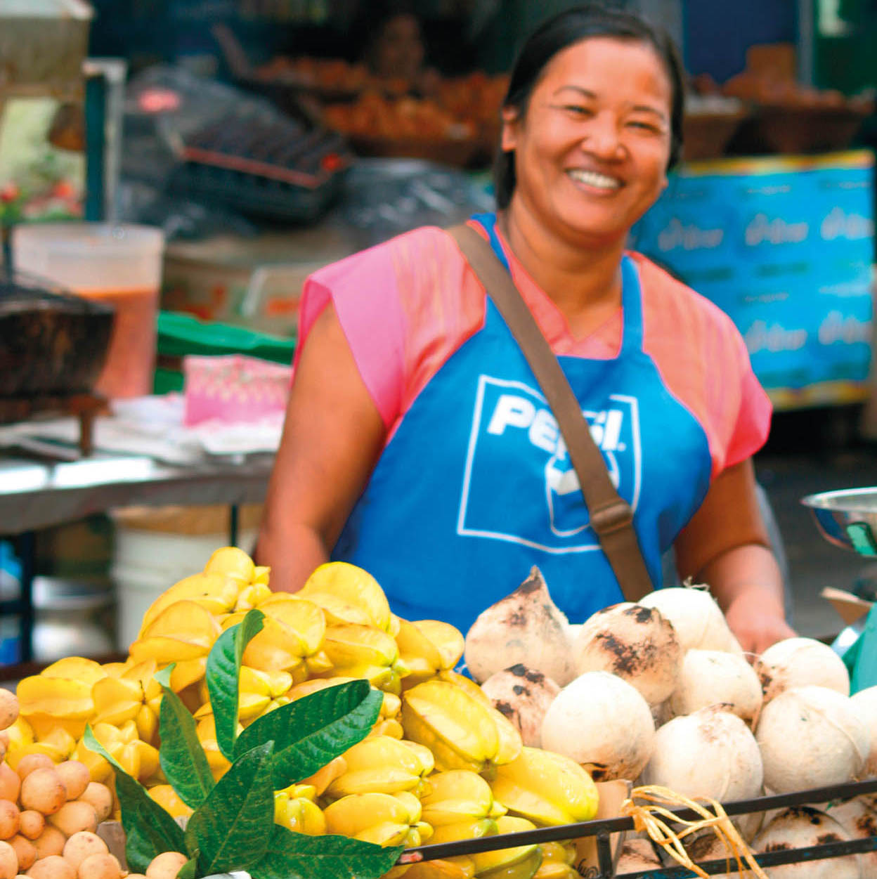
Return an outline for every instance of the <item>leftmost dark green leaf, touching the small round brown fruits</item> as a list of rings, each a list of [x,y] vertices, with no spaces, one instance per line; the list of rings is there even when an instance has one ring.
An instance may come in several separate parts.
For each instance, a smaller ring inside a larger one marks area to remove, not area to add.
[[[145,873],[157,854],[185,852],[183,831],[170,814],[152,799],[139,781],[132,778],[98,742],[91,726],[85,727],[85,747],[100,754],[116,770],[116,795],[125,828],[125,856],[128,868]]]

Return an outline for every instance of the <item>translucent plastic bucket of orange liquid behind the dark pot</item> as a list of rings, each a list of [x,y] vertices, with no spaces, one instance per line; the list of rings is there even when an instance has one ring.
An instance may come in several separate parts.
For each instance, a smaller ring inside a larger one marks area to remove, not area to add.
[[[114,397],[152,391],[164,236],[148,226],[39,223],[12,232],[18,269],[116,310],[95,390]]]

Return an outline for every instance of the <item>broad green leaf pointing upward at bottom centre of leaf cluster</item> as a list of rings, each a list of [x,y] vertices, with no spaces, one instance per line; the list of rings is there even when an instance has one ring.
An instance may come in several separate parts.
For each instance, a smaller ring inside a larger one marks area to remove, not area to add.
[[[274,826],[273,748],[266,742],[236,759],[189,818],[186,842],[199,849],[204,875],[248,869],[267,852]]]

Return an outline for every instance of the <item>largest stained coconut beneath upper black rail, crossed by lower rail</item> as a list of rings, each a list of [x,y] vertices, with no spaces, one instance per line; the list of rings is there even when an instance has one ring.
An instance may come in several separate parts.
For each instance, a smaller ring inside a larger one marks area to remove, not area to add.
[[[785,809],[752,842],[756,854],[781,852],[790,848],[818,846],[850,839],[824,812],[808,806]],[[855,854],[822,861],[803,861],[767,868],[771,879],[864,879],[859,857]]]

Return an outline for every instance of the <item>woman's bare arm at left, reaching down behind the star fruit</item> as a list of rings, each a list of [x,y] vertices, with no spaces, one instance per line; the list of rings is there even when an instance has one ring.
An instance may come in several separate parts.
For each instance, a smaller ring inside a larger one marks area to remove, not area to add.
[[[327,561],[386,437],[335,309],[315,320],[296,367],[255,556],[276,591]]]

